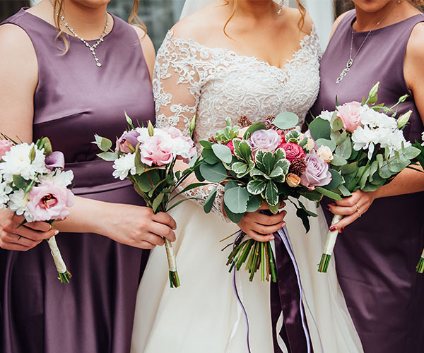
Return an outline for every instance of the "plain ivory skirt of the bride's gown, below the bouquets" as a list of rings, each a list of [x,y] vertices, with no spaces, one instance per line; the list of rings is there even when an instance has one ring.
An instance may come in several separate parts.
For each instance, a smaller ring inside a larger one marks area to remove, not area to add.
[[[316,207],[304,202],[310,210]],[[286,210],[314,352],[363,352],[338,286],[334,261],[327,274],[317,272],[328,231],[322,210],[317,209],[319,216],[311,219],[308,234],[293,205]],[[181,287],[170,288],[165,249],[154,249],[137,295],[131,353],[246,353],[247,325],[225,265],[230,249],[221,251],[229,241],[220,243],[237,226],[218,215],[206,215],[191,201],[171,215],[178,225],[174,248]],[[245,270],[237,274],[237,282],[249,318],[251,352],[272,353],[269,283],[261,282],[260,275],[249,282]]]

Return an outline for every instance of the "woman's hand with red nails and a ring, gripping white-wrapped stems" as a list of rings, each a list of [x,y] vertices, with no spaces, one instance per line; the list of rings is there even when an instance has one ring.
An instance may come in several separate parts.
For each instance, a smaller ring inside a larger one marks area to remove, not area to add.
[[[334,213],[334,215],[343,215],[343,220],[333,225],[330,230],[334,231],[338,229],[339,232],[344,227],[358,220],[358,218],[367,212],[370,205],[377,198],[375,191],[355,191],[351,197],[343,198],[343,200],[334,201],[327,205],[327,208]]]

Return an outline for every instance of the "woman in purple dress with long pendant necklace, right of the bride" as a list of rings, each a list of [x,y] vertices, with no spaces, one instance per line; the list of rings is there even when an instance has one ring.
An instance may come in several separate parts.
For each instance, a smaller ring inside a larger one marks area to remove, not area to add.
[[[354,3],[355,10],[334,25],[312,114],[334,110],[336,95],[340,104],[360,102],[380,81],[379,102],[387,106],[409,95],[398,116],[413,111],[404,135],[421,140],[424,16],[413,5],[424,1]],[[350,53],[353,66],[336,83]],[[378,191],[356,191],[328,205],[331,213],[346,215],[336,224],[343,230],[335,249],[336,267],[365,353],[424,352],[424,277],[415,272],[424,246],[423,190],[424,174],[406,169]]]

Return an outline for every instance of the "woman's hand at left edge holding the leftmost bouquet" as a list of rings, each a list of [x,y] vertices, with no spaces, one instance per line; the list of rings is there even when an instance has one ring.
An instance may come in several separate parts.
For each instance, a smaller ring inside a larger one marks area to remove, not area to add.
[[[25,223],[18,227],[23,220],[23,216],[16,216],[9,210],[0,210],[0,248],[28,251],[44,239],[50,239],[59,233],[46,222]]]

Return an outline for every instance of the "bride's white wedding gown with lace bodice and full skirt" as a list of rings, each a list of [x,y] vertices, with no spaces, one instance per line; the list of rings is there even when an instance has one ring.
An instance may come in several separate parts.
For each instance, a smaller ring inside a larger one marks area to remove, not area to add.
[[[302,124],[318,94],[319,56],[315,29],[283,68],[254,56],[175,37],[170,31],[158,51],[153,75],[157,124],[177,126],[189,133],[189,120],[196,114],[194,141],[198,147],[199,140],[225,128],[226,118],[237,124],[241,114],[256,122],[280,112],[295,112]],[[203,186],[185,196],[204,199],[211,189],[213,186]],[[304,202],[316,209],[315,203]],[[221,251],[231,240],[220,243],[238,227],[223,220],[221,209],[222,203],[216,201],[217,211],[206,215],[201,205],[187,201],[171,211],[177,221],[175,252],[182,286],[170,289],[165,251],[153,250],[139,287],[132,353],[308,352],[306,347],[297,349],[296,337],[284,332],[293,317],[280,317],[278,323],[274,317],[271,320],[271,300],[280,303],[278,298],[270,299],[269,283],[261,282],[259,276],[249,282],[247,271],[242,269],[235,283],[249,321],[248,350],[245,316],[225,265],[230,249]],[[362,352],[334,268],[329,277],[317,273],[322,235],[328,229],[322,211],[317,210],[319,217],[311,220],[312,231],[305,234],[294,206],[288,203],[286,209],[314,352],[322,352],[321,343],[326,353]],[[290,304],[290,299],[293,304],[294,290],[285,290],[285,304]],[[282,327],[283,337],[273,335]]]

